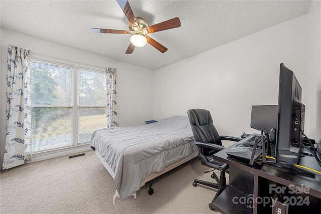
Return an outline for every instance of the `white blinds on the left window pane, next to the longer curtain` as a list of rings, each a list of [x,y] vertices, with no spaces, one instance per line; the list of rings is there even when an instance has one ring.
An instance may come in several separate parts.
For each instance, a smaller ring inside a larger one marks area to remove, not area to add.
[[[32,60],[32,151],[73,145],[72,66]]]

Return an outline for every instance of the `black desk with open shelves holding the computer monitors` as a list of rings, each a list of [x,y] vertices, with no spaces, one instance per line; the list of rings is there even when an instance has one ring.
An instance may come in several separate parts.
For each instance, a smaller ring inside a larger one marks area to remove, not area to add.
[[[250,165],[228,156],[228,148],[214,155],[216,159],[229,164],[229,185],[212,202],[216,210],[222,213],[271,214],[272,198],[280,193],[279,197],[289,203],[288,213],[320,213],[320,174],[306,177],[288,168],[268,164]],[[298,164],[321,171],[314,157],[301,157]]]

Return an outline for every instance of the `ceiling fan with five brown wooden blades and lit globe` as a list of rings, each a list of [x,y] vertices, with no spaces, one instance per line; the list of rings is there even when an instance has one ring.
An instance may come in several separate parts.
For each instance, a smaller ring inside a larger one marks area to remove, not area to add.
[[[168,49],[165,46],[156,42],[155,40],[151,39],[149,36],[147,36],[147,34],[181,27],[180,19],[176,17],[162,23],[148,26],[143,19],[141,19],[140,17],[134,16],[127,0],[125,1],[116,0],[116,1],[130,23],[128,26],[129,31],[100,29],[100,28],[92,28],[91,30],[94,33],[100,33],[100,34],[131,34],[130,44],[127,48],[126,54],[131,54],[134,51],[134,48],[136,46],[142,47],[146,43],[150,44],[151,46],[156,48],[158,51],[165,53]]]

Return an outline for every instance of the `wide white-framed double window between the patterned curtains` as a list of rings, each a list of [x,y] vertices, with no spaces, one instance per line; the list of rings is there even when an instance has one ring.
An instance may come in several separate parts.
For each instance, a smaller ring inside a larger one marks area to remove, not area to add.
[[[32,152],[89,143],[107,126],[106,73],[33,59]]]

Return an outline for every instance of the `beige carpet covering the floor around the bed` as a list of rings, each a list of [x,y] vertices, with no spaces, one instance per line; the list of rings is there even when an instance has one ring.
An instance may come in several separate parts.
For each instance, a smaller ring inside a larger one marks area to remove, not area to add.
[[[210,168],[194,158],[137,191],[137,198],[117,198],[115,183],[92,152],[25,164],[1,171],[1,213],[217,213],[209,209],[216,190],[198,185],[212,181]],[[217,172],[218,173],[218,172]]]

